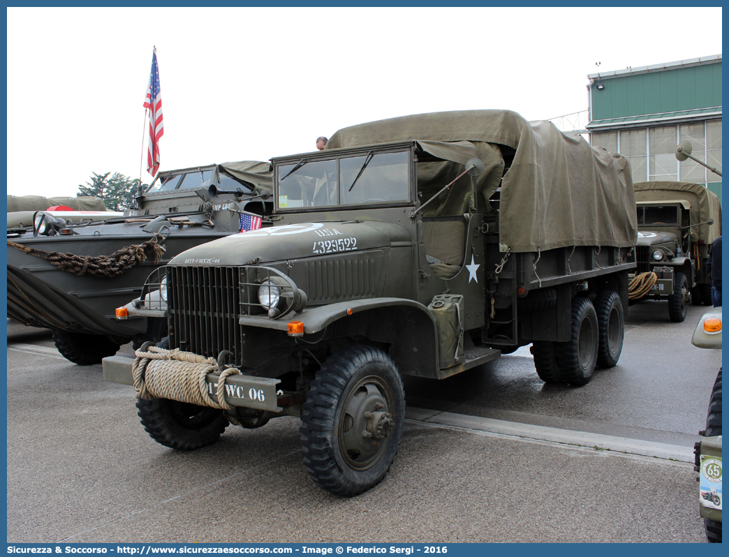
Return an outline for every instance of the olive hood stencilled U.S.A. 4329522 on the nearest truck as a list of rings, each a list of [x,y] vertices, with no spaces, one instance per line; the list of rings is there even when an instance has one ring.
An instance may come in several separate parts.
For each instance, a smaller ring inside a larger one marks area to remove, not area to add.
[[[188,249],[169,265],[248,265],[412,244],[407,228],[380,221],[305,222],[232,234]]]

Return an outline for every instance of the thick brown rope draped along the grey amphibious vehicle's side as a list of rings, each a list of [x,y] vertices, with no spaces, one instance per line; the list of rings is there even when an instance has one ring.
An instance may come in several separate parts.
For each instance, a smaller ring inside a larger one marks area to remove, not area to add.
[[[46,252],[43,249],[37,249],[16,242],[7,241],[8,246],[20,249],[21,252],[40,257],[41,259],[51,262],[61,270],[67,270],[78,276],[117,276],[125,273],[130,268],[147,260],[147,251],[152,250],[155,256],[155,265],[165,252],[165,246],[157,243],[157,234],[154,238],[150,238],[143,244],[132,244],[110,255],[98,255],[92,257],[90,255],[74,255],[69,253]]]

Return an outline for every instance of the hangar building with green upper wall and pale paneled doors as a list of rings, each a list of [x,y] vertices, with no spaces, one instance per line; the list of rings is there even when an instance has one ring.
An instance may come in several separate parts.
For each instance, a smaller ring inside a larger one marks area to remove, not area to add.
[[[722,55],[588,75],[590,143],[631,162],[634,182],[682,180],[705,184],[722,198]]]

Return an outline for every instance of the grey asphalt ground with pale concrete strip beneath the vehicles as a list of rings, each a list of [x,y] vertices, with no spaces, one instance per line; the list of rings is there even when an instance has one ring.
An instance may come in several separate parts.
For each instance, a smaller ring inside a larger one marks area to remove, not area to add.
[[[704,542],[688,461],[720,354],[690,345],[702,311],[672,324],[634,306],[620,365],[580,389],[545,386],[525,350],[408,379],[397,459],[354,499],[308,479],[297,419],[172,451],[142,429],[130,387],[11,323],[7,539]]]

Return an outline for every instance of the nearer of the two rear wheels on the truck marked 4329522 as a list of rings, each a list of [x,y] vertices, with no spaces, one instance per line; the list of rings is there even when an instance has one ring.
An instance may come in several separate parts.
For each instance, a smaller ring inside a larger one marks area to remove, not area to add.
[[[572,338],[557,347],[557,363],[567,383],[586,385],[590,382],[597,365],[598,346],[599,326],[595,306],[588,297],[574,297]]]

